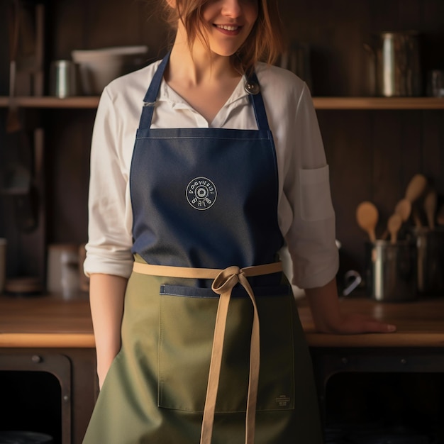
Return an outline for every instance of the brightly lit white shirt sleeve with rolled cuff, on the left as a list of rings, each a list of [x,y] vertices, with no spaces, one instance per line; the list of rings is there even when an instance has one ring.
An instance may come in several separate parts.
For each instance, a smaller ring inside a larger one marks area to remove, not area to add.
[[[89,223],[84,272],[131,274],[132,235],[126,221],[128,174],[119,148],[119,123],[107,92],[101,96],[91,141]]]

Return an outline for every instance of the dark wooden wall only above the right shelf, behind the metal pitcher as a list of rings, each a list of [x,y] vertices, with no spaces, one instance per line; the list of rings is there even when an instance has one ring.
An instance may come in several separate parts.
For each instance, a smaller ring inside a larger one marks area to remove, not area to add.
[[[313,93],[370,93],[370,55],[364,44],[381,31],[418,30],[423,71],[444,67],[444,4],[440,0],[280,1],[290,40],[312,48]]]

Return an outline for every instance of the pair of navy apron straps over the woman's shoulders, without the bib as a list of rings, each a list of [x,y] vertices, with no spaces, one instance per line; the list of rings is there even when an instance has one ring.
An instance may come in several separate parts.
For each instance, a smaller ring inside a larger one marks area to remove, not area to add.
[[[160,84],[162,83],[163,73],[170,60],[171,51],[167,52],[167,55],[163,58],[160,65],[152,77],[150,87],[143,98],[142,115],[140,116],[139,128],[150,128],[152,121],[152,114],[154,113],[155,102],[157,95],[159,94]],[[252,86],[252,89],[249,88]],[[260,94],[259,81],[257,80],[256,73],[253,71],[248,77],[248,81],[245,84],[245,90],[250,96],[250,102],[253,110],[255,111],[255,118],[257,123],[257,129],[270,130],[268,126],[267,113],[265,112],[265,105]]]

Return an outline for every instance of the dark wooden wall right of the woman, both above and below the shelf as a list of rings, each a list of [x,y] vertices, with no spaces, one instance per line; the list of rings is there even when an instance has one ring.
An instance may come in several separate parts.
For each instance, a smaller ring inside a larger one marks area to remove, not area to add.
[[[444,68],[444,2],[440,0],[281,1],[290,41],[311,45],[314,96],[367,96],[371,57],[365,44],[380,31],[417,30],[423,90],[427,73]],[[424,92],[424,94],[426,94]],[[318,111],[343,243],[341,273],[364,267],[365,233],[355,209],[371,200],[377,234],[421,172],[444,194],[444,111]]]

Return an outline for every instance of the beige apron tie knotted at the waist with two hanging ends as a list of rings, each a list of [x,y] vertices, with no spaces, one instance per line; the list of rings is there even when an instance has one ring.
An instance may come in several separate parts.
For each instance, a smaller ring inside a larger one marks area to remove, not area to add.
[[[210,371],[206,389],[200,444],[211,444],[219,376],[221,373],[223,340],[225,337],[231,290],[235,284],[238,284],[238,282],[245,288],[248,296],[250,296],[254,311],[250,343],[250,376],[248,381],[247,411],[245,417],[245,444],[254,444],[257,384],[259,382],[260,366],[260,331],[255,295],[252,292],[247,277],[281,272],[282,263],[274,262],[272,264],[245,267],[243,269],[233,266],[228,267],[225,270],[217,270],[213,268],[170,267],[166,265],[149,265],[134,262],[133,271],[155,276],[214,279],[211,289],[213,289],[213,292],[219,294],[220,297],[216,313],[216,325],[214,327],[213,349],[211,351]]]

